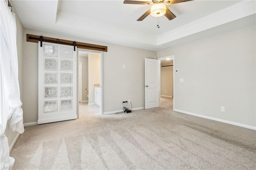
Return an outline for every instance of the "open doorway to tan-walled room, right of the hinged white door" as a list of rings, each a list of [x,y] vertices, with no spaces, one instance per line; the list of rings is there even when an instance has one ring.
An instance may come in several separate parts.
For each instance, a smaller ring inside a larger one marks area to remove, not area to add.
[[[160,107],[174,109],[174,55],[160,59]]]

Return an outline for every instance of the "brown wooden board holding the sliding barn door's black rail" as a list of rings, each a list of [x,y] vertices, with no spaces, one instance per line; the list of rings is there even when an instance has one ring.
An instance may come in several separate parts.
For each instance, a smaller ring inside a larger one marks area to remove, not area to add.
[[[35,36],[31,34],[27,34],[27,42],[35,42],[38,43],[40,41],[40,36]],[[43,37],[43,42],[49,42],[49,43],[58,43],[63,45],[74,45],[74,42],[69,40],[62,40],[57,38],[50,38],[50,37]],[[96,45],[96,44],[90,44],[90,43],[82,43],[82,42],[75,42],[77,48],[82,49],[92,49],[96,51],[104,51],[108,52],[107,46],[102,45]]]

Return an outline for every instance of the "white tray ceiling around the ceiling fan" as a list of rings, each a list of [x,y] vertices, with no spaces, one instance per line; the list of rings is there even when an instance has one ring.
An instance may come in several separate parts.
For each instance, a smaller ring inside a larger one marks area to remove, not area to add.
[[[160,17],[157,28],[157,18],[153,16],[136,21],[150,5],[123,4],[123,0],[11,2],[24,28],[154,51],[256,13],[254,0],[194,0],[168,6],[176,18],[169,21]]]

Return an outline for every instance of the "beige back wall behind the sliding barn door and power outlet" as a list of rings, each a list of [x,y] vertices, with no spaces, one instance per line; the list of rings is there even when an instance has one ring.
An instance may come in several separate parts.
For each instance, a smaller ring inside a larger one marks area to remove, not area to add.
[[[144,107],[144,59],[156,58],[156,51],[94,42],[24,29],[24,123],[38,120],[38,43],[26,42],[26,34],[108,46],[104,52],[104,112],[122,110],[122,101],[130,99],[134,108]],[[122,65],[126,64],[123,69]],[[90,89],[89,89],[90,90]]]

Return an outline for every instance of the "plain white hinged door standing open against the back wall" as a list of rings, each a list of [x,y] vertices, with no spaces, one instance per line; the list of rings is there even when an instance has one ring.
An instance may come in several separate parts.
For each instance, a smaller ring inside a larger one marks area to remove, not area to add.
[[[159,107],[159,69],[158,59],[145,58],[145,109]]]

